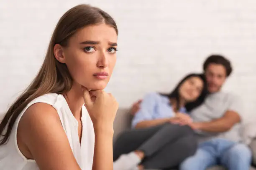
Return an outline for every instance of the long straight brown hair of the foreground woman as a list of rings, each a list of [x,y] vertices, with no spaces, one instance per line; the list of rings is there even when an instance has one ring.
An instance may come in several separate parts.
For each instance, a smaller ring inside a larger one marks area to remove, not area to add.
[[[108,13],[90,5],[77,5],[68,10],[59,20],[51,37],[49,47],[38,75],[28,88],[10,106],[5,117],[0,123],[0,145],[7,142],[11,130],[20,112],[36,97],[47,93],[65,93],[72,87],[73,80],[67,65],[59,62],[54,57],[54,45],[66,47],[69,38],[77,30],[88,25],[105,23],[113,27],[118,34],[118,29],[113,18]],[[6,130],[6,131],[5,131]],[[4,133],[5,132],[5,133]]]

